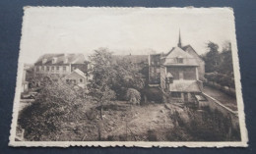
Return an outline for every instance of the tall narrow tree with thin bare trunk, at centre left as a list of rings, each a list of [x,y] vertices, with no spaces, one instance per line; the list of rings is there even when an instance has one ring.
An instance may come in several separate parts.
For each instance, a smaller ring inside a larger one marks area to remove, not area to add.
[[[111,65],[111,57],[112,53],[103,48],[95,50],[95,53],[90,56],[93,66],[91,70],[93,80],[89,84],[89,91],[99,104],[101,120],[103,104],[115,98],[115,92],[110,89],[111,82],[116,75],[116,71]]]

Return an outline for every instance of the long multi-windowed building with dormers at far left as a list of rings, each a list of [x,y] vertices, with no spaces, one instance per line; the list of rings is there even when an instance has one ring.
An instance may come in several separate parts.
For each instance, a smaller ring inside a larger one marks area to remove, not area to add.
[[[34,64],[34,76],[65,77],[76,69],[83,73],[88,71],[83,54],[44,54]]]

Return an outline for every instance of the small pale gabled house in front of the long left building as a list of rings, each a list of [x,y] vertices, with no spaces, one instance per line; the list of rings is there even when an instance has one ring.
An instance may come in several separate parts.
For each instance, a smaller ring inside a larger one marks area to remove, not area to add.
[[[89,78],[85,76],[85,73],[83,73],[79,69],[74,70],[72,73],[68,74],[65,77],[62,77],[61,79],[65,81],[67,84],[79,86],[82,88],[86,87],[89,80]]]

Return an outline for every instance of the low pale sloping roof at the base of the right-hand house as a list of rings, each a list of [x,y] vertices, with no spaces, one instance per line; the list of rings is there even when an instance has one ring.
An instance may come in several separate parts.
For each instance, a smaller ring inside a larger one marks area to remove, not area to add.
[[[196,80],[173,80],[169,84],[169,91],[201,92]]]

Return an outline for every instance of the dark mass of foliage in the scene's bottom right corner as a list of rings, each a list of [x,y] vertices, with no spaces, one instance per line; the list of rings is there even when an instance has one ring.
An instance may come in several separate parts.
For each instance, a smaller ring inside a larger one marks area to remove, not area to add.
[[[184,115],[186,115],[185,117],[188,120],[184,119]],[[186,138],[194,141],[228,141],[240,139],[240,134],[237,133],[239,130],[232,127],[231,118],[224,116],[218,110],[211,111],[207,108],[205,111],[198,112],[186,108],[182,113],[174,112],[173,117],[178,124],[175,126],[175,129],[182,129],[183,131],[182,135],[175,136],[181,137],[184,140],[187,140]],[[186,138],[182,136],[186,136]]]

